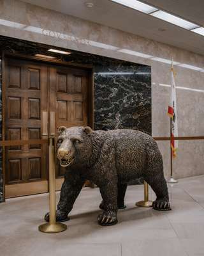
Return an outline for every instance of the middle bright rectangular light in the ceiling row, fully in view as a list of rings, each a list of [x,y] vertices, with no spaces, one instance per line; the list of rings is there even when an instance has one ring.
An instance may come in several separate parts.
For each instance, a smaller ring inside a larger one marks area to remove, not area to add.
[[[158,18],[158,19],[162,19],[165,20],[167,22],[170,22],[171,24],[177,25],[181,28],[185,28],[185,29],[194,29],[197,28],[198,25],[194,24],[192,22],[189,22],[187,20],[181,19],[175,15],[172,15],[170,13],[167,12],[163,12],[161,10],[154,12],[154,13],[150,13],[150,15]]]

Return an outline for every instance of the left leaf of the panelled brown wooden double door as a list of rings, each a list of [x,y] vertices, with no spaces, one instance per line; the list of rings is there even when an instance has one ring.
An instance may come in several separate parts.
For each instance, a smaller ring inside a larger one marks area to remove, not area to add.
[[[41,136],[41,112],[48,111],[48,68],[14,59],[6,59],[5,64],[6,140],[45,138]],[[47,180],[46,145],[6,147],[5,161],[7,185]]]

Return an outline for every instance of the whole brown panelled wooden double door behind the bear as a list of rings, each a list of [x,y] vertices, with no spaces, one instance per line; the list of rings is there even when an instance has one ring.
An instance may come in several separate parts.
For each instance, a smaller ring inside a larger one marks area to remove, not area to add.
[[[57,127],[91,125],[90,71],[5,60],[4,140],[42,140]],[[88,104],[90,102],[90,104]],[[5,147],[6,198],[48,191],[48,144]],[[56,161],[56,186],[64,168]]]

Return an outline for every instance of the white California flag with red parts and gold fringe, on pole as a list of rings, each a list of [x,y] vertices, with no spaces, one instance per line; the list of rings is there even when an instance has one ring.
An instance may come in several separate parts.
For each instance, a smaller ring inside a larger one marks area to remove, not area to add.
[[[171,150],[172,155],[177,155],[177,148],[179,141],[175,140],[178,136],[178,123],[177,123],[177,99],[176,99],[176,88],[175,88],[175,72],[173,70],[173,61],[171,63],[171,97],[170,105],[168,106],[168,115],[171,118]]]

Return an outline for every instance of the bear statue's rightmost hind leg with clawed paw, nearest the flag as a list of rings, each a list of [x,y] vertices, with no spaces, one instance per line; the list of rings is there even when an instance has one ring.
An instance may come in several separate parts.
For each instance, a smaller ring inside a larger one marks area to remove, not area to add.
[[[156,193],[156,200],[153,202],[153,209],[157,211],[169,211],[171,210],[168,188],[166,185],[166,180],[164,179],[164,174],[158,173],[154,177],[149,177],[145,179],[147,183],[151,186],[154,193]]]

